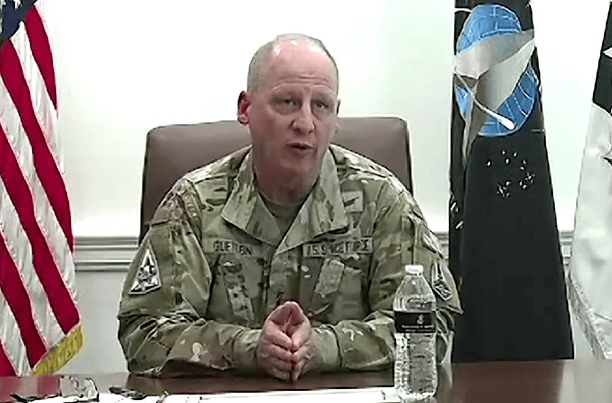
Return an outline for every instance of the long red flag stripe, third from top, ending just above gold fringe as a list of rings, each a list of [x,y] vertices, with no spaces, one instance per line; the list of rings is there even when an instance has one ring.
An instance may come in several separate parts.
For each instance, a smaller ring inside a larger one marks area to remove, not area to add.
[[[70,297],[64,281],[53,261],[47,240],[34,216],[34,202],[31,190],[23,177],[17,158],[13,154],[6,134],[0,127],[0,177],[4,182],[9,198],[13,202],[21,226],[32,245],[32,262],[40,283],[47,293],[51,310],[65,334],[78,324],[79,316],[75,302]],[[5,283],[11,284],[11,283]]]

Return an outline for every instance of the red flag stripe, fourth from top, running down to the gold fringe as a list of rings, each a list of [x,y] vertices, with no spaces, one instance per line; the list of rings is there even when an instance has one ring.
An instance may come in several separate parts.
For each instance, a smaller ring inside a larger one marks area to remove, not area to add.
[[[3,152],[0,152],[0,155],[4,157]],[[2,176],[4,177],[4,175]],[[0,292],[4,294],[10,310],[13,312],[15,320],[17,320],[21,339],[23,339],[23,344],[26,346],[28,362],[33,368],[38,360],[40,360],[40,357],[45,354],[47,347],[45,347],[38,328],[34,324],[28,291],[23,286],[17,266],[15,266],[15,262],[13,262],[13,258],[10,256],[9,250],[6,248],[2,238],[0,238],[0,267],[2,267],[2,270],[0,270]]]

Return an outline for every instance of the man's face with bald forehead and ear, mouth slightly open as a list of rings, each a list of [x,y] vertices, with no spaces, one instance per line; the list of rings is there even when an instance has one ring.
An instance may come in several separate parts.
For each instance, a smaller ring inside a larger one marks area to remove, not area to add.
[[[318,174],[338,127],[336,85],[323,50],[300,40],[278,43],[261,68],[259,86],[239,105],[255,163],[296,177]]]

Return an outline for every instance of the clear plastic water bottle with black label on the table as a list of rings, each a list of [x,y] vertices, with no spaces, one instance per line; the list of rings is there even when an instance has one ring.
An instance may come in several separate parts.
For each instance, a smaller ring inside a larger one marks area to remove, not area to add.
[[[401,402],[436,393],[436,298],[422,266],[406,266],[395,293],[395,390]]]

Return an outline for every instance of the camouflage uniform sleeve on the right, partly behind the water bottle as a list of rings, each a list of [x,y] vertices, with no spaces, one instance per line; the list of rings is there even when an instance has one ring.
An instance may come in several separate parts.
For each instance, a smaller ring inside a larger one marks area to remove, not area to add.
[[[457,287],[433,232],[412,196],[401,185],[383,188],[373,233],[374,254],[368,280],[371,313],[362,321],[343,320],[315,328],[319,366],[360,371],[389,368],[394,362],[395,290],[406,264],[420,264],[436,296],[436,358],[449,346],[454,317],[461,313]]]

